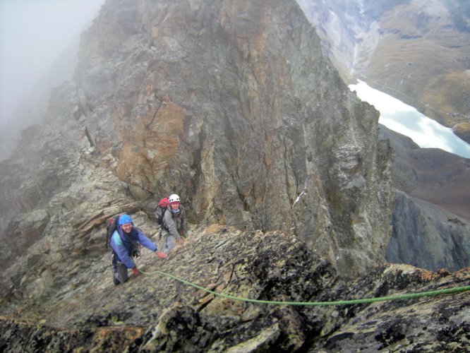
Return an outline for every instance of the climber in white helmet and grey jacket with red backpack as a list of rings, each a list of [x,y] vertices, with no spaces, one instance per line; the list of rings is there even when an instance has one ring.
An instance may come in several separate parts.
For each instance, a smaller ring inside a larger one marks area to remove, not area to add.
[[[165,241],[164,253],[174,248],[175,241],[183,242],[186,238],[186,213],[178,195],[174,193],[168,198],[169,204],[163,216],[161,235]]]

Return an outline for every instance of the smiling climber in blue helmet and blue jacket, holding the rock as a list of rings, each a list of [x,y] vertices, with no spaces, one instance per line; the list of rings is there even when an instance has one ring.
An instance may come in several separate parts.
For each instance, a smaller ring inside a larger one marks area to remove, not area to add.
[[[145,237],[142,229],[135,227],[129,215],[121,215],[117,221],[116,231],[109,240],[112,252],[112,264],[114,285],[119,285],[128,280],[127,270],[130,268],[135,276],[140,272],[133,261],[133,257],[140,254],[139,246],[155,251],[158,258],[166,258],[162,251],[157,251],[157,246],[150,239]]]

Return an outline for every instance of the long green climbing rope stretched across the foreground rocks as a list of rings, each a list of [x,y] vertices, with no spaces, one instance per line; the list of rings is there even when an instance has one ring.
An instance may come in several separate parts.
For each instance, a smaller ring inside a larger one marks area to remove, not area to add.
[[[454,287],[454,288],[447,288],[447,289],[438,289],[438,290],[431,290],[428,292],[420,292],[420,293],[410,293],[410,294],[402,294],[402,295],[395,295],[390,297],[378,297],[378,298],[366,298],[366,299],[351,299],[351,300],[338,300],[338,301],[270,301],[270,300],[259,300],[259,299],[248,299],[248,298],[241,298],[241,297],[234,297],[233,295],[224,294],[224,293],[217,293],[210,289],[201,287],[199,285],[195,285],[194,283],[188,282],[183,280],[179,277],[174,275],[170,275],[169,273],[164,273],[163,271],[155,271],[152,273],[145,273],[144,271],[140,271],[144,275],[155,275],[156,273],[159,275],[164,275],[170,277],[174,280],[177,280],[185,285],[190,285],[192,287],[198,288],[203,290],[204,292],[214,294],[217,297],[223,297],[227,299],[233,299],[238,301],[247,301],[249,303],[258,303],[258,304],[275,304],[275,305],[310,305],[310,306],[320,306],[320,305],[353,305],[353,304],[366,304],[366,303],[373,303],[375,301],[390,301],[390,300],[401,300],[401,299],[413,299],[413,298],[421,298],[421,297],[432,297],[442,294],[451,294],[451,293],[459,293],[465,292],[470,290],[470,286],[464,287]]]

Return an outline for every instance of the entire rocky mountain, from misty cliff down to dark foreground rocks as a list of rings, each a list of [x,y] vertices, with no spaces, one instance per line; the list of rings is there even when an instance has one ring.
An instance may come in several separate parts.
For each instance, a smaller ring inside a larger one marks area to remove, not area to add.
[[[296,309],[212,297],[155,272],[289,301],[468,282],[468,270],[385,263],[390,145],[295,1],[107,1],[73,82],[52,91],[0,177],[4,349],[466,344],[463,293]],[[114,287],[105,220],[128,213],[158,242],[152,211],[172,192],[193,232],[166,261],[143,251],[147,275]]]

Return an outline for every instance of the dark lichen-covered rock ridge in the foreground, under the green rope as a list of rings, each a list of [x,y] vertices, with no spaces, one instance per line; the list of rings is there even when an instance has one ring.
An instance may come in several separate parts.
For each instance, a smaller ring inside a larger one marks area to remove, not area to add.
[[[155,229],[148,222],[139,225],[148,234]],[[124,285],[112,283],[109,254],[98,257],[91,270],[58,268],[64,282],[42,297],[26,291],[23,298],[13,292],[2,296],[2,315],[17,319],[0,318],[0,347],[8,352],[459,352],[469,345],[470,303],[462,292],[374,304],[281,306],[215,296],[165,275],[239,298],[304,302],[459,287],[468,285],[469,268],[450,275],[386,265],[348,280],[298,239],[217,225],[195,229],[164,261],[144,249],[136,261],[145,275],[131,276]],[[19,274],[23,281],[38,271],[25,270]]]

